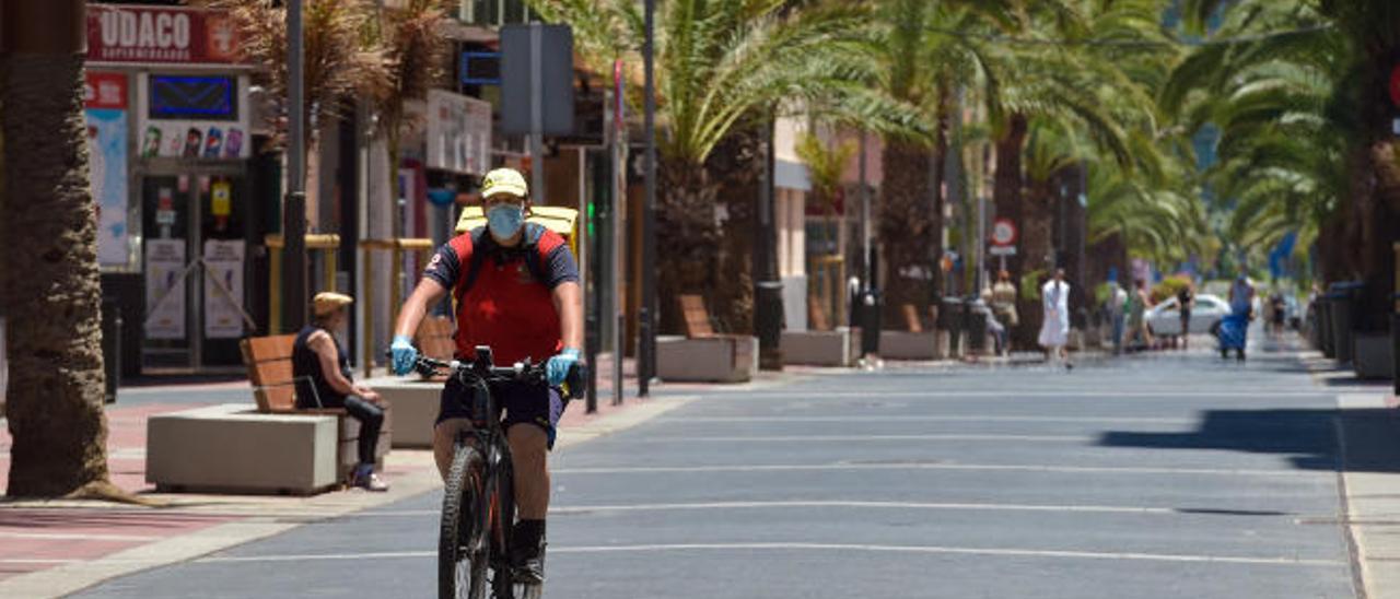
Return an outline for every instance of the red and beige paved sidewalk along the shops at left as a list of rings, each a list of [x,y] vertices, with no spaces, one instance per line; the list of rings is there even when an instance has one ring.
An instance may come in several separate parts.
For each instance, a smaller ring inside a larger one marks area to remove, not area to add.
[[[774,376],[766,376],[774,378]],[[783,378],[781,375],[777,378]],[[559,448],[610,434],[686,403],[679,385],[657,388],[657,397],[629,399],[613,406],[599,396],[598,413],[587,414],[575,402],[560,424]],[[690,388],[690,386],[686,386]],[[94,501],[0,501],[0,598],[62,596],[108,578],[189,560],[326,518],[389,504],[437,488],[441,483],[430,451],[395,449],[385,460],[389,493],[333,491],[314,497],[158,494],[146,483],[146,423],[153,414],[199,404],[202,395],[228,400],[244,383],[216,383],[207,389],[182,385],[174,403],[160,400],[108,406],[108,453],[112,481],[141,497],[165,502],[160,508]],[[148,393],[147,393],[148,395]],[[195,399],[195,400],[189,400]],[[216,402],[217,403],[217,402]],[[0,488],[6,484],[10,437],[0,420]]]

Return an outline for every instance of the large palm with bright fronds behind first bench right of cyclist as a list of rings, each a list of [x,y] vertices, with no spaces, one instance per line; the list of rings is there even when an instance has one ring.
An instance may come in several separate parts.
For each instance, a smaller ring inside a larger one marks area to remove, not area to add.
[[[574,28],[577,48],[594,70],[610,70],[615,59],[640,64],[644,31],[637,3],[535,0],[531,6]],[[862,45],[868,17],[868,7],[843,1],[661,6],[655,64],[662,330],[679,330],[679,315],[668,309],[678,294],[710,290],[738,304],[718,311],[736,315],[732,325],[745,327],[748,256],[729,245],[752,238],[745,234],[752,207],[742,197],[752,195],[762,158],[757,144],[766,143],[770,119],[816,113],[876,132],[920,130],[916,111],[862,84],[874,69]],[[721,204],[725,210],[717,211]],[[724,227],[721,217],[728,218]],[[717,251],[731,259],[715,259]]]

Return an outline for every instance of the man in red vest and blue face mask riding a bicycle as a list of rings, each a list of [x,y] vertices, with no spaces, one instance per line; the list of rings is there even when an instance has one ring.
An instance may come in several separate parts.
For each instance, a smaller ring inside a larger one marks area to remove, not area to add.
[[[525,223],[529,193],[515,169],[498,168],[482,182],[486,227],[458,235],[438,248],[423,280],[403,304],[393,327],[393,371],[407,374],[417,351],[413,332],[428,306],[448,291],[456,309],[456,360],[475,358],[476,346],[490,346],[498,364],[549,357],[549,386],[501,383],[491,395],[505,410],[503,425],[515,469],[515,501],[519,522],[511,535],[510,556],[517,582],[545,579],[545,515],[549,509],[547,452],[554,427],[564,413],[559,386],[578,362],[584,341],[582,294],[578,265],[564,238]],[[454,439],[470,427],[468,389],[448,379],[442,389],[433,453],[447,477]],[[524,424],[524,425],[518,425]]]

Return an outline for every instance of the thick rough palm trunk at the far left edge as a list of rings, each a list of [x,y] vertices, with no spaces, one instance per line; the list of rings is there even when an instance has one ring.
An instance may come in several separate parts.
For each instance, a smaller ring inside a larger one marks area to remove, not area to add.
[[[7,17],[15,17],[13,8]],[[14,437],[7,493],[63,495],[108,480],[83,55],[10,52],[3,90],[0,120],[10,143],[0,305],[8,322],[6,417]]]

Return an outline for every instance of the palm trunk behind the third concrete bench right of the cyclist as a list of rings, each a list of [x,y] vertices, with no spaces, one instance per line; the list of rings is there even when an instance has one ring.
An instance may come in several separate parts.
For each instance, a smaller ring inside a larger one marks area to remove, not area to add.
[[[895,330],[907,329],[904,305],[913,305],[920,315],[928,313],[928,277],[937,276],[928,251],[930,245],[939,245],[928,206],[930,154],[927,147],[892,139],[881,155],[885,165],[885,181],[879,189],[881,260],[885,265],[883,326]]]

